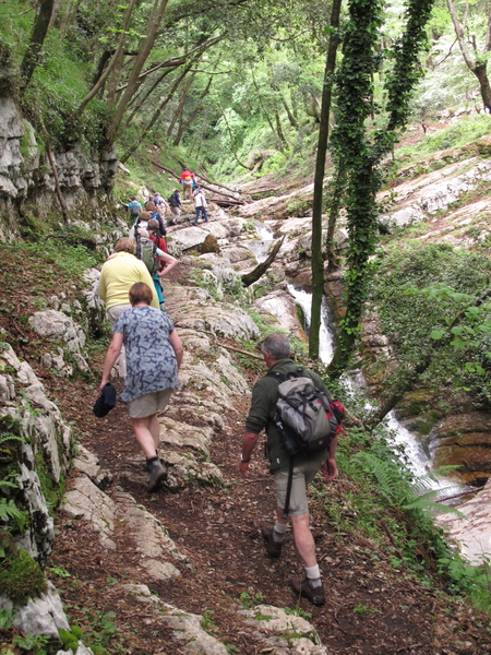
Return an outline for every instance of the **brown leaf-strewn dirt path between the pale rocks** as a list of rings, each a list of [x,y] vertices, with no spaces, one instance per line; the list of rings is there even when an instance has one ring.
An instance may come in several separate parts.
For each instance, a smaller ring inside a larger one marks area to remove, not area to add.
[[[173,279],[179,281],[182,274],[181,270]],[[101,356],[92,367],[100,370]],[[64,380],[53,378],[46,384],[68,420],[75,420],[84,433],[84,445],[112,473],[113,484],[106,492],[111,496],[121,488],[133,495],[164,523],[193,567],[182,568],[181,577],[155,584],[140,567],[141,556],[131,547],[123,523],[116,531],[116,549],[106,550],[84,521],[60,514],[60,535],[49,567],[71,621],[87,632],[96,626],[97,643],[110,653],[181,653],[169,629],[156,622],[151,609],[132,600],[119,586],[139,582],[147,584],[161,600],[204,615],[208,629],[229,644],[230,653],[266,653],[264,643],[258,641],[237,612],[244,605],[258,603],[296,607],[289,580],[301,573],[301,567],[291,536],[287,537],[279,560],[272,560],[263,549],[259,526],[272,516],[273,485],[261,448],[255,452],[251,478],[246,481],[238,473],[242,420],[232,414],[224,417],[226,429],[216,433],[213,443],[211,456],[223,472],[223,489],[190,485],[177,493],[160,491],[148,496],[142,485],[128,479],[128,472],[135,466],[143,469],[144,461],[125,407],[118,406],[106,419],[97,420],[89,413],[95,389],[87,389],[81,381],[68,388]],[[179,395],[171,402],[179,405]],[[241,419],[248,402],[247,397],[236,400]],[[204,424],[195,420],[195,425]],[[135,464],[135,460],[141,464]],[[313,486],[311,508],[327,602],[324,607],[314,608],[302,599],[299,606],[311,614],[310,620],[330,653],[488,653],[489,633],[476,626],[468,607],[458,602],[450,605],[440,592],[424,590],[404,571],[396,571],[388,564],[387,555],[362,535],[349,540],[338,532],[321,496],[315,493],[321,484],[319,480]],[[342,477],[332,485],[331,493],[343,503],[350,486]],[[70,576],[60,577],[57,567]]]

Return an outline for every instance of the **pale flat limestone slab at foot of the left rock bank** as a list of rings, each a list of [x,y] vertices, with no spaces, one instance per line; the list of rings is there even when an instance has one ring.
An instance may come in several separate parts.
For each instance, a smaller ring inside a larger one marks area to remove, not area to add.
[[[115,543],[110,538],[115,532],[116,503],[104,491],[98,489],[87,476],[73,480],[73,487],[65,495],[61,510],[74,519],[85,519],[92,529],[99,535],[100,544],[113,550]]]

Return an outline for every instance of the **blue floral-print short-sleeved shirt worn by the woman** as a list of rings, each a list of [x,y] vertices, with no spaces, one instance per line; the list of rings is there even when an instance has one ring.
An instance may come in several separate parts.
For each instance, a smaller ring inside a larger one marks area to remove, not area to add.
[[[123,335],[127,380],[121,400],[135,401],[147,393],[179,386],[176,354],[169,343],[173,323],[154,307],[132,307],[116,321]]]

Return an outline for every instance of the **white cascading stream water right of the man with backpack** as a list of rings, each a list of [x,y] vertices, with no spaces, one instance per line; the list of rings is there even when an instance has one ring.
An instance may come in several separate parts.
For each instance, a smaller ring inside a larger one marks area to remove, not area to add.
[[[310,326],[311,317],[311,305],[312,294],[308,294],[301,289],[297,289],[292,284],[288,285],[288,291],[295,298],[297,305],[299,305],[303,311],[306,318],[307,327]],[[327,302],[325,298],[322,300],[321,308],[321,330],[319,334],[319,357],[321,361],[328,365],[334,354],[334,335],[331,330],[330,315],[327,309]],[[364,379],[361,372],[357,376],[347,376],[345,382],[351,389],[361,386],[364,384]],[[402,445],[405,454],[407,455],[408,466],[416,476],[423,476],[430,471],[428,456],[419,442],[419,440],[411,434],[404,426],[399,424],[394,413],[391,412],[387,416],[388,428],[393,432],[394,445]],[[448,488],[448,483],[429,480],[429,487],[432,489]]]

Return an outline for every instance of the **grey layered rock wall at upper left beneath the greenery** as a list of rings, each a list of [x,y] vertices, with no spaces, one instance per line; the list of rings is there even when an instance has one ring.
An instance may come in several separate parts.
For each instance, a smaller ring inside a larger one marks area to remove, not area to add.
[[[0,97],[0,241],[17,239],[36,222],[52,223],[60,205],[45,145],[21,116],[12,98]],[[110,206],[118,168],[116,151],[89,153],[81,141],[53,152],[60,188],[71,216],[100,222],[101,207]]]

